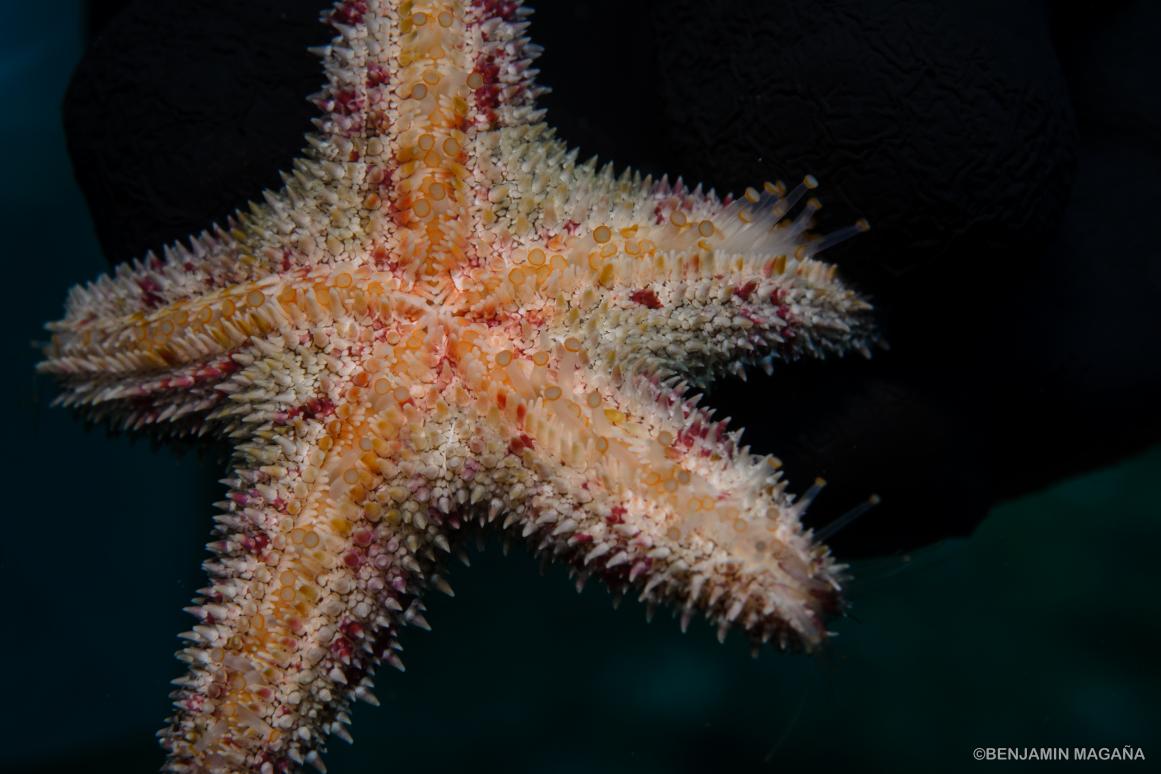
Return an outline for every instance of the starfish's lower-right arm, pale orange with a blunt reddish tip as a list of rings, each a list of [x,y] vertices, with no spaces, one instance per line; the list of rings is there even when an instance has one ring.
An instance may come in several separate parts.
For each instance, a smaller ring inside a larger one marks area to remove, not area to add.
[[[780,463],[738,448],[684,384],[586,362],[575,339],[548,359],[498,357],[471,501],[582,577],[671,605],[683,627],[700,609],[722,637],[736,624],[756,643],[819,645],[841,567],[800,523],[815,490],[787,494]]]

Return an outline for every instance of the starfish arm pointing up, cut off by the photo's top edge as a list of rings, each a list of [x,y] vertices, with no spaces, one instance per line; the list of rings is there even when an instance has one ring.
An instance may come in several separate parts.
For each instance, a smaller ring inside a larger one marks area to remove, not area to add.
[[[338,35],[320,50],[323,116],[287,179],[322,246],[312,260],[370,256],[444,299],[447,273],[474,260],[479,214],[466,210],[489,194],[477,140],[543,115],[528,13],[509,0],[344,0],[326,14]]]

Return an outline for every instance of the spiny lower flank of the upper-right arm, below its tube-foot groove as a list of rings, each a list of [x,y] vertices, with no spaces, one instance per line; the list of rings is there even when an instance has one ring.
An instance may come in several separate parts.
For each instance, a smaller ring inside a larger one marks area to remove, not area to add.
[[[661,259],[669,262],[669,259]],[[857,350],[875,340],[870,304],[805,259],[676,259],[669,272],[626,272],[589,299],[585,340],[597,359],[623,370],[680,374],[704,385],[747,366]],[[708,266],[707,266],[708,265]]]

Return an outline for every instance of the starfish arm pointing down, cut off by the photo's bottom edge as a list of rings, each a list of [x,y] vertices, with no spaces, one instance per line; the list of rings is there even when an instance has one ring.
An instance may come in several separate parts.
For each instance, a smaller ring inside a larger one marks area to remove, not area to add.
[[[425,589],[450,593],[440,565],[461,525],[426,407],[370,360],[311,350],[294,405],[267,406],[250,388],[271,367],[231,378],[245,441],[179,653],[167,771],[316,764],[329,733],[349,739],[353,699],[377,703],[375,667],[403,668],[401,628],[428,628]]]

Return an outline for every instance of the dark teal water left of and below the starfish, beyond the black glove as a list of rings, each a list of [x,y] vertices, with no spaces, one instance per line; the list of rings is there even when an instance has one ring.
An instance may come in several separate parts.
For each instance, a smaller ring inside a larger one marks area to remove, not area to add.
[[[33,372],[41,323],[104,268],[59,126],[79,6],[0,6],[3,771],[156,769],[219,476],[86,429]],[[404,641],[408,672],[382,674],[383,706],[358,708],[355,745],[327,764],[957,772],[980,768],[976,746],[1125,744],[1155,760],[1158,482],[1161,448],[1000,506],[971,538],[857,564],[852,615],[815,658],[751,660],[741,638],[647,624],[490,545],[453,571],[457,596],[431,601],[434,631]]]

